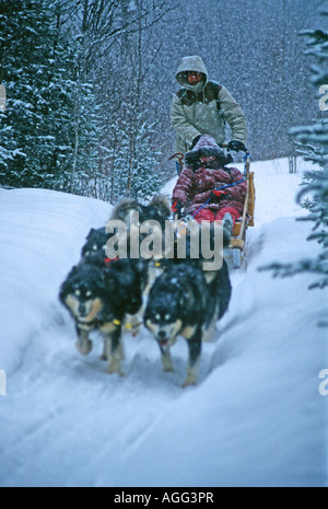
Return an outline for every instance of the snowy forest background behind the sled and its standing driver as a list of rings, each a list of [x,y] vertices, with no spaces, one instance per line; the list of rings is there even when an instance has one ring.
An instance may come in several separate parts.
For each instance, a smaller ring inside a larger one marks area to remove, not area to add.
[[[0,185],[147,200],[168,158],[175,72],[203,58],[248,122],[253,160],[292,157],[320,116],[298,33],[320,0],[0,0]]]

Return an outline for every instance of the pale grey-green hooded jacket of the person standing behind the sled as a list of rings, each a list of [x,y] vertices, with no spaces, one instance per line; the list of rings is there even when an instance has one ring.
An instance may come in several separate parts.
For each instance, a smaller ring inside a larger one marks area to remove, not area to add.
[[[202,81],[190,85],[187,71],[201,72]],[[232,139],[246,142],[247,125],[242,107],[225,86],[221,86],[218,109],[212,85],[214,82],[208,81],[208,71],[200,57],[184,57],[177,69],[176,80],[183,88],[174,94],[171,106],[171,124],[177,132],[176,152],[185,153],[194,139],[204,134],[211,135],[216,143],[224,143],[225,122],[232,129]]]

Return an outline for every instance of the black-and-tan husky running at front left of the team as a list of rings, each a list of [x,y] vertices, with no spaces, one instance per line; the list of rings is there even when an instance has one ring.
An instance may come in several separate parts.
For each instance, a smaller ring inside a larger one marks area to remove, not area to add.
[[[98,329],[109,373],[122,374],[122,324],[141,309],[145,278],[142,261],[118,259],[108,266],[102,255],[94,255],[74,266],[61,285],[59,299],[75,321],[78,350],[87,355],[90,333]]]

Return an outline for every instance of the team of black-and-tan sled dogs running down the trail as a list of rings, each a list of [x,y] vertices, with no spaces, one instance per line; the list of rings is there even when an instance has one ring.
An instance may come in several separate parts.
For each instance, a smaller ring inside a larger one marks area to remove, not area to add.
[[[163,196],[155,196],[149,205],[125,198],[114,208],[109,223],[122,221],[125,235],[118,235],[118,244],[129,245],[132,213],[138,212],[139,222],[153,221],[151,243],[163,246],[162,255],[139,257],[108,256],[108,241],[117,231],[92,229],[81,251],[81,259],[72,267],[61,285],[59,298],[75,322],[77,348],[82,355],[92,349],[90,334],[99,331],[104,338],[102,359],[108,362],[108,372],[122,375],[122,332],[137,335],[143,324],[159,344],[164,371],[173,371],[171,347],[183,336],[188,345],[188,367],[184,386],[197,382],[202,340],[209,340],[214,333],[215,322],[225,313],[231,284],[225,261],[208,264],[204,269],[203,252],[192,255],[195,245],[188,223],[175,224],[175,242],[165,246],[165,221],[172,215],[171,206]],[[167,222],[166,222],[167,224]],[[189,222],[189,225],[191,223]],[[215,235],[221,235],[223,246],[230,235],[222,230],[222,223],[197,223],[207,228],[208,239],[215,245]],[[219,230],[218,230],[219,229]],[[145,234],[138,230],[139,242]],[[184,256],[179,256],[183,248]],[[199,244],[198,244],[199,246]],[[166,251],[165,251],[166,248]],[[200,247],[199,247],[200,250]],[[167,252],[169,251],[169,252]],[[210,251],[214,253],[214,250]],[[112,252],[110,252],[112,253]],[[126,251],[129,253],[129,250]]]

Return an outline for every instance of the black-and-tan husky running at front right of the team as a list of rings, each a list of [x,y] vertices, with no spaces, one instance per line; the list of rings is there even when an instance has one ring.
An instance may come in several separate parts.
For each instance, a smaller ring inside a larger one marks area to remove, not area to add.
[[[230,297],[225,262],[209,282],[202,269],[187,261],[168,265],[153,284],[144,311],[144,325],[160,346],[164,371],[173,371],[169,347],[177,336],[187,340],[189,360],[183,386],[196,384],[201,342],[225,313]]]

